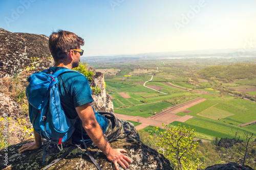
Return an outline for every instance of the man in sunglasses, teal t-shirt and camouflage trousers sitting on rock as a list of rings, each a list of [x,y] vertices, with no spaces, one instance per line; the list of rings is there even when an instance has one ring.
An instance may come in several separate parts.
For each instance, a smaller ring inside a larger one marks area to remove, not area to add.
[[[58,69],[77,67],[80,56],[83,54],[80,45],[84,45],[84,40],[74,33],[62,30],[53,32],[49,38],[49,48],[55,65],[50,67],[48,71],[53,73]],[[80,144],[82,133],[84,141],[96,144],[106,157],[115,164],[116,169],[118,169],[117,163],[124,169],[129,167],[131,160],[121,153],[126,151],[124,149],[112,149],[109,142],[126,136],[139,140],[134,125],[116,117],[108,119],[108,116],[95,112],[91,105],[93,102],[91,88],[85,76],[77,72],[67,72],[60,75],[58,80],[61,106],[65,114],[71,119],[77,115],[81,119],[81,121],[76,121],[76,130],[70,141],[73,144]],[[83,127],[82,131],[81,126]],[[24,144],[19,149],[19,153],[41,147],[40,135],[35,131],[34,135],[35,142]]]

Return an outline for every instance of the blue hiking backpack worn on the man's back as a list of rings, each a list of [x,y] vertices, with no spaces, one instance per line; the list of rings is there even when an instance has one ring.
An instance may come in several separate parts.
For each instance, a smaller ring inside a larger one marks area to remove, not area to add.
[[[65,68],[57,70],[53,75],[46,72],[47,69],[35,72],[28,78],[26,95],[29,102],[29,118],[34,130],[43,139],[56,144],[61,151],[62,142],[69,139],[75,130],[76,119],[69,119],[62,109],[58,76],[65,72],[78,71]]]

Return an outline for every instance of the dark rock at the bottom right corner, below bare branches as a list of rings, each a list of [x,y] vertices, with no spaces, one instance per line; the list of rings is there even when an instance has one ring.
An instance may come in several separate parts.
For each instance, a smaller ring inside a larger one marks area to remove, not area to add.
[[[225,164],[216,164],[205,168],[205,170],[253,170],[248,165],[238,164],[236,162],[229,162]]]

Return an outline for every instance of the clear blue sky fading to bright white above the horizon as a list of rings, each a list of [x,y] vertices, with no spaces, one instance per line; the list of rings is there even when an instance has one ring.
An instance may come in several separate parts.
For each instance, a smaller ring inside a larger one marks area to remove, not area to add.
[[[85,57],[256,47],[255,7],[255,0],[0,0],[0,28],[74,32],[86,42]]]

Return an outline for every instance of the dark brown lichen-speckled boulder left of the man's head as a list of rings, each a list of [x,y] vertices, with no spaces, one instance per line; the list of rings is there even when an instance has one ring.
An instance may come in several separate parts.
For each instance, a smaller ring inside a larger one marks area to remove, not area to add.
[[[0,28],[0,78],[18,74],[36,60],[36,68],[48,68],[52,61],[49,37],[29,33],[11,33]]]

